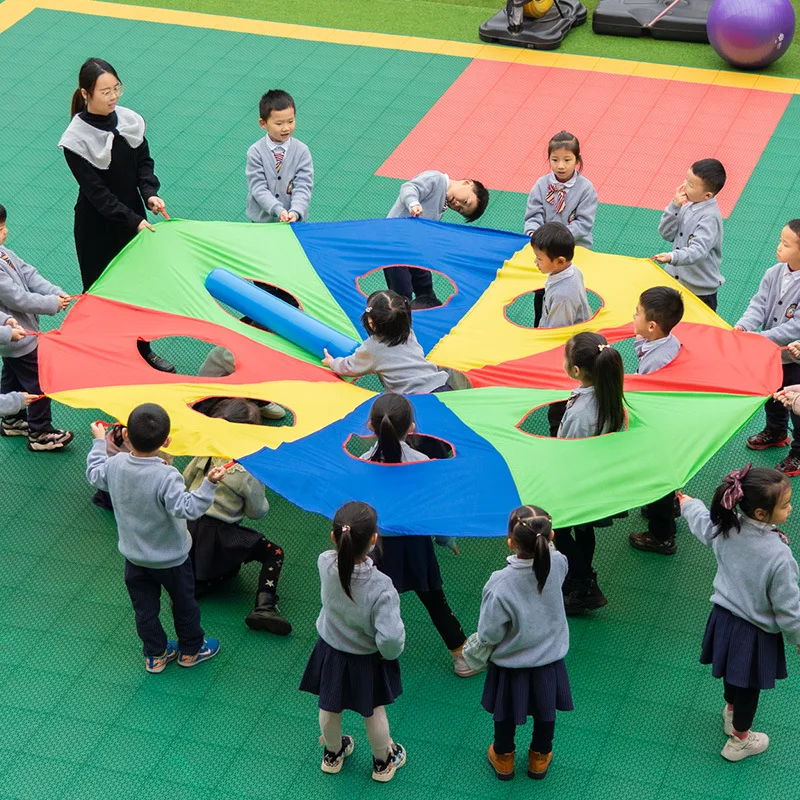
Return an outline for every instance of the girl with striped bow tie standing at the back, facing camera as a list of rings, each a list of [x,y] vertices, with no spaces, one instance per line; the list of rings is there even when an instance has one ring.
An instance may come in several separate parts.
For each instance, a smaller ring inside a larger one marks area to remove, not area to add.
[[[525,208],[525,235],[535,233],[546,222],[569,228],[575,244],[591,248],[597,214],[597,192],[581,175],[581,146],[567,131],[557,133],[547,144],[550,172],[533,185]]]

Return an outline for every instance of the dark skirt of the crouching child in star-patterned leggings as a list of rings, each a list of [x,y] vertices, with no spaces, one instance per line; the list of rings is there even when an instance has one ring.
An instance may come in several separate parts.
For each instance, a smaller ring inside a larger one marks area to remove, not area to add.
[[[190,520],[190,557],[196,581],[213,581],[235,572],[252,558],[264,536],[252,528],[203,515]]]

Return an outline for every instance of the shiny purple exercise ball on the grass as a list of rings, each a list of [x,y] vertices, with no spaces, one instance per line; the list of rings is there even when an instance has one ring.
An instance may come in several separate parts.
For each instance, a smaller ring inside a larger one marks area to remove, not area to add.
[[[729,64],[761,69],[789,49],[794,8],[791,0],[714,0],[707,30],[711,46]]]

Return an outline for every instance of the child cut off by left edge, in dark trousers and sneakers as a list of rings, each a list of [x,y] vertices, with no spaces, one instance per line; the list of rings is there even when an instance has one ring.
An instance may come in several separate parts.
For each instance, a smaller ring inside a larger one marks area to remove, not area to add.
[[[63,289],[46,281],[34,267],[3,246],[8,236],[6,220],[6,210],[0,205],[0,315],[4,315],[4,319],[18,320],[16,328],[38,331],[39,314],[58,314],[69,305],[70,298]],[[0,392],[42,394],[38,347],[36,336],[20,338],[19,332],[0,340],[0,356],[3,358]],[[4,416],[0,422],[0,434],[26,436],[28,450],[33,452],[58,452],[73,439],[72,431],[53,427],[50,399],[47,397],[37,400],[27,413],[23,406],[17,413]]]

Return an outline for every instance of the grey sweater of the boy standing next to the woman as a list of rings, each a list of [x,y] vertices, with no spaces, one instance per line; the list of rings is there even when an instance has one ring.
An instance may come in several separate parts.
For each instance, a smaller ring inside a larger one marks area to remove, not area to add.
[[[286,142],[280,173],[266,137],[247,151],[247,218],[253,222],[278,222],[281,211],[294,211],[308,221],[308,204],[314,188],[311,152],[298,139]]]

